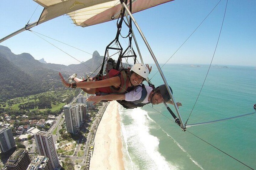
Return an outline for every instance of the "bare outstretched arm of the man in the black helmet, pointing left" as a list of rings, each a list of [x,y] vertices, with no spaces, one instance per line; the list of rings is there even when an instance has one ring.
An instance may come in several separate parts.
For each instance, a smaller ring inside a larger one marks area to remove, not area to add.
[[[90,96],[86,101],[94,101],[94,104],[99,103],[101,100],[124,100],[125,94],[109,94],[105,96]]]

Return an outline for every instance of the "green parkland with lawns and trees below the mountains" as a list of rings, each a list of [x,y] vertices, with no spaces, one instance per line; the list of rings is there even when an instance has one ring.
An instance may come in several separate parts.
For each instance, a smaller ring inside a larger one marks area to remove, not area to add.
[[[15,120],[14,125],[26,125],[25,119],[47,120],[48,115],[58,116],[62,112],[62,107],[78,93],[78,89],[59,89],[10,99],[1,102],[0,116],[9,115],[10,121]],[[50,127],[50,125],[46,125],[46,129],[47,126]]]

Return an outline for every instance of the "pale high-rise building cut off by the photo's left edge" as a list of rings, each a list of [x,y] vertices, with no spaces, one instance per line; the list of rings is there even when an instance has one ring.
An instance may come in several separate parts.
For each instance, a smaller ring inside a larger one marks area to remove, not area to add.
[[[0,130],[0,149],[2,152],[7,152],[12,147],[15,147],[15,141],[11,128],[2,128]]]

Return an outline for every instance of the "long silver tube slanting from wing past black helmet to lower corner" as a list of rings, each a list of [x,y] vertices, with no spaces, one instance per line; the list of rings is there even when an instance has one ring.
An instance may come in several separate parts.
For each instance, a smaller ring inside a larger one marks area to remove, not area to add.
[[[160,75],[162,76],[162,79],[163,79],[163,81],[164,81],[164,83],[165,83],[165,86],[166,86],[166,88],[167,88],[167,90],[168,90],[168,93],[169,93],[170,96],[171,96],[171,100],[172,100],[172,102],[173,102],[174,108],[175,108],[175,110],[176,110],[176,112],[177,112],[177,114],[178,114],[178,117],[179,117],[180,121],[181,121],[181,126],[182,126],[181,128],[186,129],[186,127],[185,127],[185,125],[184,125],[184,123],[183,123],[183,121],[182,121],[181,115],[180,115],[180,113],[179,113],[178,106],[177,106],[177,104],[176,104],[176,102],[175,102],[175,100],[174,100],[174,97],[173,97],[172,93],[171,93],[171,89],[169,88],[169,85],[168,85],[168,83],[167,83],[167,81],[166,81],[166,79],[165,79],[164,73],[162,72],[162,69],[161,69],[161,67],[160,67],[160,65],[159,65],[159,63],[158,63],[158,61],[156,60],[155,54],[153,53],[152,49],[150,48],[149,43],[147,42],[147,40],[146,40],[146,38],[145,38],[143,32],[142,32],[141,29],[139,28],[138,23],[136,22],[136,20],[135,20],[135,18],[133,17],[132,13],[131,13],[131,12],[129,11],[129,9],[127,8],[126,4],[123,2],[122,5],[123,5],[123,7],[126,9],[126,11],[129,13],[131,19],[133,20],[134,25],[135,25],[136,28],[138,29],[138,31],[139,31],[139,33],[140,33],[140,35],[141,35],[143,41],[145,42],[145,44],[146,44],[146,46],[147,46],[147,48],[148,48],[148,50],[149,50],[149,52],[150,52],[150,54],[151,54],[151,56],[152,56],[152,58],[153,58],[153,60],[154,60],[156,66],[157,66],[157,68],[158,68],[158,71],[159,71]]]

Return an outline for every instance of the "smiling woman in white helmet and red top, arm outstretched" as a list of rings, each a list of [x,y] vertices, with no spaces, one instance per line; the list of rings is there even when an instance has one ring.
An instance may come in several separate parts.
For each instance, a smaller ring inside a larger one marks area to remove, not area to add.
[[[68,88],[82,88],[88,94],[105,95],[105,94],[124,94],[128,88],[137,86],[147,79],[151,68],[149,66],[137,63],[132,66],[130,70],[115,70],[110,69],[105,76],[101,76],[100,80],[94,79],[92,82],[87,82],[78,79],[76,74],[70,76],[71,81],[75,83],[68,83],[64,80],[61,73],[61,81],[65,87]],[[71,82],[70,81],[70,82]]]

